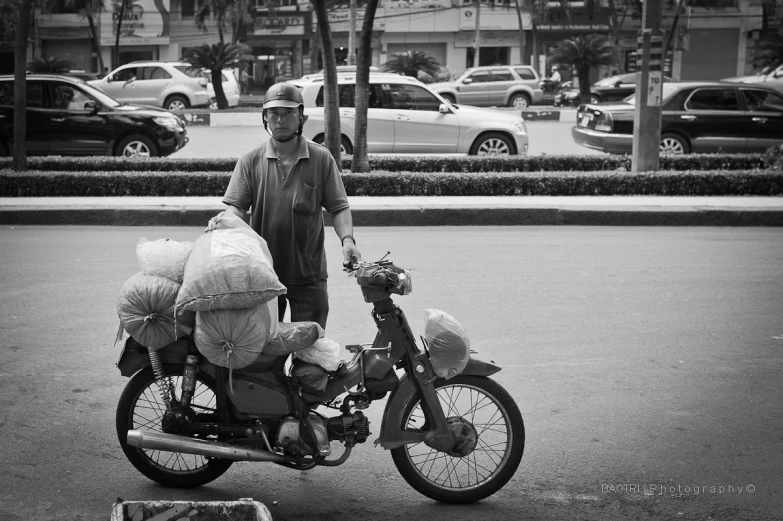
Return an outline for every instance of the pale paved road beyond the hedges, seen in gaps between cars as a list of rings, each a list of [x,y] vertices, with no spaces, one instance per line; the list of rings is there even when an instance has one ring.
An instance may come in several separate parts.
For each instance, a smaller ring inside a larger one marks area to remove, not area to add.
[[[260,118],[260,114],[259,114]],[[571,138],[572,121],[527,123],[530,155],[601,155],[575,144]],[[172,157],[240,157],[269,138],[258,127],[188,127],[190,142]]]

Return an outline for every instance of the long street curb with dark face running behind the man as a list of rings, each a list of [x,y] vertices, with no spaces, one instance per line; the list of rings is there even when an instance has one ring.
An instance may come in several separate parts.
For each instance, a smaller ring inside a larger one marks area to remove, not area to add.
[[[15,207],[0,225],[205,226],[222,206]],[[783,226],[779,208],[352,208],[354,226]],[[325,224],[331,217],[324,214]]]

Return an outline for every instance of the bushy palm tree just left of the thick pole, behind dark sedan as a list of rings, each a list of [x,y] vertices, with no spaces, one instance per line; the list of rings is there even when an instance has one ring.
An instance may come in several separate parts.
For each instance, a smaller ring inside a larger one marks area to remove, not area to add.
[[[590,69],[614,65],[617,55],[609,38],[601,34],[580,35],[563,40],[549,56],[551,65],[567,65],[576,69],[582,103],[590,103]]]

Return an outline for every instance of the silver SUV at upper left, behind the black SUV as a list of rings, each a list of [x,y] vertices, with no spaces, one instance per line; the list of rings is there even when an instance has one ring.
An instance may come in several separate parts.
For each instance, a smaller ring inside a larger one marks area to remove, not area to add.
[[[87,83],[123,103],[171,111],[209,104],[206,76],[185,62],[131,62]]]

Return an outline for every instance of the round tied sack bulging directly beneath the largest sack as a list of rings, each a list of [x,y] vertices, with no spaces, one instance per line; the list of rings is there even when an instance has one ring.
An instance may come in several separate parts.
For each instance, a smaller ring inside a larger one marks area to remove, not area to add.
[[[213,364],[240,369],[277,335],[277,320],[277,299],[252,308],[199,311],[193,340]]]

